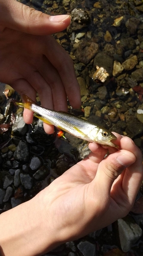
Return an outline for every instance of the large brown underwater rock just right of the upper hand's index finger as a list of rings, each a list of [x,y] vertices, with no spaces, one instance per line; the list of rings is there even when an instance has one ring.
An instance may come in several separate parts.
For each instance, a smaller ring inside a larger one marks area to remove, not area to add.
[[[74,53],[76,59],[84,64],[88,64],[98,51],[98,44],[96,42],[82,41]],[[84,53],[84,54],[83,54]]]

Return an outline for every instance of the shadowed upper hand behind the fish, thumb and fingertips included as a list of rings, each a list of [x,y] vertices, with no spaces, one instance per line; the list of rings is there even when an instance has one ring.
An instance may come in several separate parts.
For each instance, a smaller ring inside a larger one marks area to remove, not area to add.
[[[70,24],[69,15],[49,16],[15,0],[0,0],[0,81],[44,108],[67,111],[80,106],[80,90],[69,54],[50,35]],[[24,121],[33,113],[24,110]],[[45,132],[53,126],[44,124]]]

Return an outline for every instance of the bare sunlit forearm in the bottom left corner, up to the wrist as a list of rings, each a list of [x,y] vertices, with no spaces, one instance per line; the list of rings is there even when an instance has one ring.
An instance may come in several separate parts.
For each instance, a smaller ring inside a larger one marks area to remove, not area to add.
[[[1,256],[42,255],[58,245],[43,211],[35,197],[1,214]]]

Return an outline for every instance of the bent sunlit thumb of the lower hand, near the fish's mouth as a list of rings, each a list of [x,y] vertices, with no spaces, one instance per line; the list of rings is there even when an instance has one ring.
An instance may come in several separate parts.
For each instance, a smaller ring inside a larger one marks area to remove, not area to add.
[[[94,181],[96,182],[96,187],[104,190],[104,193],[109,194],[113,182],[118,178],[123,170],[133,164],[135,160],[135,155],[127,150],[120,150],[107,156],[98,165]]]

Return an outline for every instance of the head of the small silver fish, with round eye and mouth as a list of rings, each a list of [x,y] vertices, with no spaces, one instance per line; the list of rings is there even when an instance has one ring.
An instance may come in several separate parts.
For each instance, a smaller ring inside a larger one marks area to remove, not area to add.
[[[112,140],[117,140],[117,137],[102,127],[100,127],[100,128],[98,127],[98,129],[96,127],[96,129],[93,129],[91,131],[91,135],[93,137],[94,142],[96,142],[96,143],[99,143],[101,145],[118,147],[116,144],[111,142]]]

